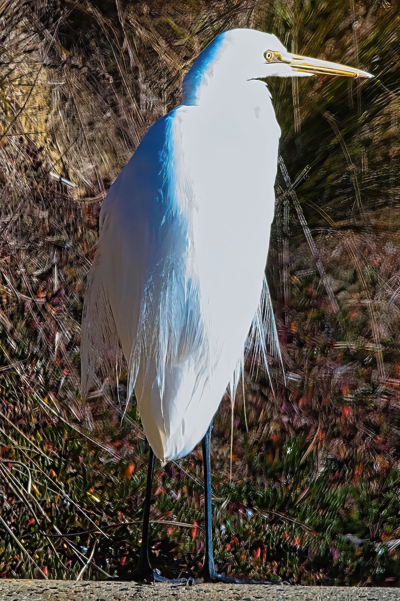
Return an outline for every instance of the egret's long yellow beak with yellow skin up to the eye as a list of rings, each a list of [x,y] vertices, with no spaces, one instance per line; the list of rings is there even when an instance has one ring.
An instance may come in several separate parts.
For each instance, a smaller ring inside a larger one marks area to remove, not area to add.
[[[267,50],[264,53],[266,63],[285,63],[288,64],[294,72],[304,73],[308,75],[344,75],[345,77],[374,77],[371,73],[356,69],[355,67],[347,67],[339,63],[330,63],[329,61],[321,61],[318,58],[310,58],[309,56],[300,56],[299,54],[290,54],[274,52]]]

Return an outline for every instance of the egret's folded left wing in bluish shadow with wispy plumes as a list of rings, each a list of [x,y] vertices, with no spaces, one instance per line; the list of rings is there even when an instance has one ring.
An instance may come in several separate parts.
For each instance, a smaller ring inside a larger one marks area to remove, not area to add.
[[[142,385],[155,377],[163,396],[166,366],[194,358],[203,340],[188,258],[193,186],[185,156],[171,147],[182,113],[191,110],[175,109],[149,129],[104,200],[83,310],[84,396],[99,368],[104,376],[115,373],[122,355],[128,395],[140,372]]]

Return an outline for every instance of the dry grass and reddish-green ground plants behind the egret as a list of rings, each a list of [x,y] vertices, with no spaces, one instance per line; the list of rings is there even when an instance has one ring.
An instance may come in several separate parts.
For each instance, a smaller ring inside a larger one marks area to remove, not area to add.
[[[272,390],[249,362],[232,452],[221,403],[216,561],[276,581],[400,584],[399,8],[0,2],[0,576],[128,579],[136,567],[147,451],[123,376],[80,398],[86,275],[116,174],[179,103],[200,50],[240,26],[375,79],[268,82],[282,137],[267,278],[287,387],[278,367]],[[157,466],[154,498],[154,566],[196,574],[200,448]]]

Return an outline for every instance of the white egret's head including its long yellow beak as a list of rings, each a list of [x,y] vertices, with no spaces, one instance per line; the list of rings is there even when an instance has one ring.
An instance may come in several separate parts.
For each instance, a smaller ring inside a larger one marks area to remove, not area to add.
[[[275,35],[255,29],[230,29],[200,53],[184,80],[184,98],[199,96],[211,79],[241,84],[252,79],[308,75],[372,78],[371,73],[288,52]],[[230,86],[229,86],[230,87]]]

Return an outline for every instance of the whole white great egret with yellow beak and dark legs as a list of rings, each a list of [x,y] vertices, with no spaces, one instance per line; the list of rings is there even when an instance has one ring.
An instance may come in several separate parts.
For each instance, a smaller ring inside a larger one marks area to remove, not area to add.
[[[146,133],[110,188],[88,278],[82,392],[98,368],[128,364],[151,446],[138,577],[158,579],[148,556],[154,454],[165,463],[202,440],[204,579],[213,563],[210,424],[234,395],[249,328],[266,358],[270,311],[264,268],[273,219],[280,130],[265,78],[372,75],[285,49],[253,29],[219,34],[194,61],[182,104]]]

